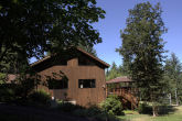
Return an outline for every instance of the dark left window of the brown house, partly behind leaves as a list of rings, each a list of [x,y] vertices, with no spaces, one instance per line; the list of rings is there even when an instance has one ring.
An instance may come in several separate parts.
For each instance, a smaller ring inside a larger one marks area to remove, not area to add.
[[[56,80],[51,79],[49,82],[49,89],[66,89],[68,87],[68,81],[65,79]]]

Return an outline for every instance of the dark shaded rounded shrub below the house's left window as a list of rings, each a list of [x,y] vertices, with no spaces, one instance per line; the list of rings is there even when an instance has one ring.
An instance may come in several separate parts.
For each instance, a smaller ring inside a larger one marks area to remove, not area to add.
[[[31,105],[35,106],[50,106],[51,96],[45,90],[34,91],[28,97]]]

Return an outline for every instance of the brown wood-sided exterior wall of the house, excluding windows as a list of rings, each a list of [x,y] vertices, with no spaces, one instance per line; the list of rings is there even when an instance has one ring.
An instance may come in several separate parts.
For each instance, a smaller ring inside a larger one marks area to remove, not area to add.
[[[68,99],[75,100],[81,106],[97,105],[105,100],[106,92],[104,87],[106,87],[106,81],[104,68],[96,65],[81,66],[77,58],[72,58],[67,62],[67,65],[49,67],[40,72],[39,75],[41,75],[42,80],[45,80],[45,76],[52,76],[52,73],[58,74],[60,70],[68,78],[67,89],[49,90],[45,87],[40,88],[47,90],[55,99],[65,99],[66,92]],[[96,79],[96,88],[78,88],[78,79]]]

